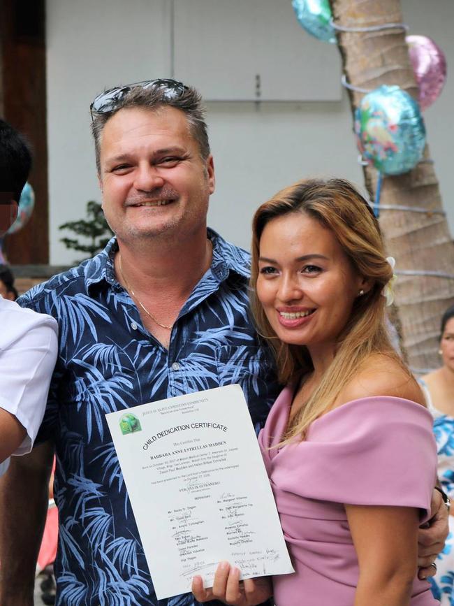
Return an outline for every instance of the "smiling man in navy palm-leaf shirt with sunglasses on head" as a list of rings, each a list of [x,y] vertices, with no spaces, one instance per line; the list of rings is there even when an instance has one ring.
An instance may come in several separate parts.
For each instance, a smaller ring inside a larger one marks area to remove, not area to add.
[[[101,94],[91,113],[115,238],[22,298],[58,317],[61,331],[40,436],[57,451],[57,605],[157,605],[105,413],[240,383],[259,428],[278,386],[248,318],[249,256],[207,231],[214,164],[198,93],[175,80],[142,82]],[[11,468],[3,494],[22,486],[29,515],[44,504],[34,498],[41,480],[27,472]],[[0,515],[0,558],[8,561],[0,603],[29,605],[32,533],[17,508]]]

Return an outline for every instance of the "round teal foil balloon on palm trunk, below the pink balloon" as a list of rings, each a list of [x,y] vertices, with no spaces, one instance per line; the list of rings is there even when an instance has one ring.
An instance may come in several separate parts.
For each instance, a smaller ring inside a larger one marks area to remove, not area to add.
[[[355,113],[363,158],[385,175],[411,171],[422,159],[425,126],[418,103],[398,86],[367,93]]]

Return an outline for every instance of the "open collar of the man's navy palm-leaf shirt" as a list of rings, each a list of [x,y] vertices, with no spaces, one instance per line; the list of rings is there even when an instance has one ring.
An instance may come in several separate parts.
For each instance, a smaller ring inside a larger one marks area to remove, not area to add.
[[[222,282],[226,280],[230,271],[248,278],[251,269],[251,259],[249,253],[219,236],[219,233],[207,228],[207,237],[210,238],[213,245],[213,258],[211,270],[213,275]],[[101,285],[102,282],[110,284],[112,287],[118,287],[117,278],[114,270],[114,257],[118,250],[117,238],[111,238],[96,257],[85,261],[85,287],[87,292],[91,291],[95,285]]]

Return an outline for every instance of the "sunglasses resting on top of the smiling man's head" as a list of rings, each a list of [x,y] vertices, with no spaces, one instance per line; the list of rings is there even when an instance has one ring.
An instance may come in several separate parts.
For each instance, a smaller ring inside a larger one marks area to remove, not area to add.
[[[93,103],[91,103],[91,121],[93,121],[93,113],[105,114],[115,110],[119,106],[119,103],[122,102],[122,99],[124,99],[124,96],[126,96],[131,89],[136,87],[158,90],[162,93],[163,99],[165,100],[177,99],[177,97],[188,89],[183,82],[178,82],[178,80],[172,80],[170,78],[156,78],[155,80],[144,80],[143,82],[133,82],[133,84],[116,86],[98,94]]]

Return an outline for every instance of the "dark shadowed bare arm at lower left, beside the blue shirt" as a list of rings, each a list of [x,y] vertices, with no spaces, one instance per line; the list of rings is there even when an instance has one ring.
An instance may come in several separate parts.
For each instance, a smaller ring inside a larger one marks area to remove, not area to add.
[[[48,505],[54,446],[13,456],[0,477],[0,604],[33,606],[36,560]]]

